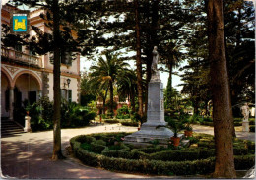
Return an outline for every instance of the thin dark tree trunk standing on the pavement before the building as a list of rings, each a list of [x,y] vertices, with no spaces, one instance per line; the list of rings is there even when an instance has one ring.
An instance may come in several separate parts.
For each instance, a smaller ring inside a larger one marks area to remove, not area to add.
[[[61,129],[60,129],[60,47],[59,47],[59,2],[53,1],[53,38],[54,38],[54,69],[53,69],[53,90],[54,90],[54,114],[53,114],[53,153],[52,159],[63,158],[61,151]]]

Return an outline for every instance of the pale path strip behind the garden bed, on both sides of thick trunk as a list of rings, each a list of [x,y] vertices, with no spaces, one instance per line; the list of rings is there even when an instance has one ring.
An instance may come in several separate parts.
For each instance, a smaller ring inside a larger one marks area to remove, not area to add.
[[[205,133],[214,135],[214,127],[211,126],[201,126],[201,125],[192,125],[193,131],[196,133]],[[242,127],[235,127],[235,134],[238,139],[250,140],[255,142],[255,133],[253,132],[243,132]]]

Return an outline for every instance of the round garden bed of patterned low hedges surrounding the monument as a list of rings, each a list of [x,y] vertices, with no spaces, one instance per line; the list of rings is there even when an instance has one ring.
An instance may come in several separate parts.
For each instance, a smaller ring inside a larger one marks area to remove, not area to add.
[[[83,163],[107,170],[140,172],[158,175],[209,174],[214,171],[214,138],[195,134],[191,146],[186,148],[161,147],[153,144],[147,148],[135,148],[122,143],[127,133],[80,135],[70,144],[74,155]],[[236,170],[251,168],[255,163],[255,144],[250,141],[234,141]]]

